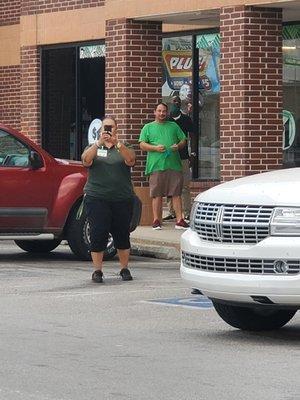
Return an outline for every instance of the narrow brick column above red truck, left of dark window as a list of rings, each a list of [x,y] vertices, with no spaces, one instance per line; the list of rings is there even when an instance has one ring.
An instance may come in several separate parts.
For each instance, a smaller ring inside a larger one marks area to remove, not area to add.
[[[21,131],[40,143],[40,53],[36,46],[21,47],[20,98]]]

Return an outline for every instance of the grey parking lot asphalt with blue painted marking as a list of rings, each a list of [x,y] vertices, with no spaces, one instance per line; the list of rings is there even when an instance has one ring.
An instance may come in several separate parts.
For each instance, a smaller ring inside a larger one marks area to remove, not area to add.
[[[299,313],[241,332],[191,296],[178,261],[130,267],[122,282],[107,262],[97,285],[67,246],[33,256],[0,242],[1,400],[299,398]]]

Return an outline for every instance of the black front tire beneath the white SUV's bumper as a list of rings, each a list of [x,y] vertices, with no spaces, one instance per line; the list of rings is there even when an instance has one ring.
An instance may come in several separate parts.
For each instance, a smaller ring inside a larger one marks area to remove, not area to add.
[[[246,331],[268,331],[279,329],[293,318],[295,310],[250,308],[232,306],[213,300],[219,316],[234,328]]]

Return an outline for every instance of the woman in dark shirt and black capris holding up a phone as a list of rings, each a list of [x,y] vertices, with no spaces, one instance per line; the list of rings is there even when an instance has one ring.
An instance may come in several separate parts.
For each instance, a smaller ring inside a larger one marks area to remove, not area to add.
[[[132,280],[128,269],[134,195],[130,167],[135,163],[135,153],[118,140],[114,118],[103,120],[98,140],[84,150],[81,159],[89,168],[84,204],[90,224],[92,280],[103,282],[103,253],[109,233],[118,251],[120,276],[124,281]]]

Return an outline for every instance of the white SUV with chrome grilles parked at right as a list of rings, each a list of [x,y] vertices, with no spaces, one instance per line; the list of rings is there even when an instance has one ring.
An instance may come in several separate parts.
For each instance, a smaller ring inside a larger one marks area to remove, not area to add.
[[[300,309],[300,168],[199,194],[181,237],[181,276],[228,324],[284,326]]]

